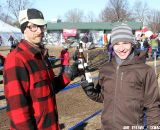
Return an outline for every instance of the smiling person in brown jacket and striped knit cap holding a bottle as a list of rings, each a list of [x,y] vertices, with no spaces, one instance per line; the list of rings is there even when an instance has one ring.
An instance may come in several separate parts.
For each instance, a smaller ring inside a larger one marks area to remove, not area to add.
[[[154,69],[134,56],[134,36],[127,25],[112,29],[114,59],[103,65],[97,84],[82,78],[81,86],[90,99],[103,103],[102,130],[160,126],[160,98]],[[152,128],[151,128],[152,129]],[[158,129],[157,129],[158,130]]]

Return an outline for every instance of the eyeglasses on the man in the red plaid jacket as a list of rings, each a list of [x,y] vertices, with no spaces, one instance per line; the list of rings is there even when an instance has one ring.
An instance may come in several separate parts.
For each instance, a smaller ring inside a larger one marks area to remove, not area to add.
[[[27,26],[27,28],[29,28],[29,30],[32,31],[32,32],[36,32],[38,30],[38,28],[40,28],[41,31],[44,32],[47,29],[47,26],[46,25],[32,24],[32,25]]]

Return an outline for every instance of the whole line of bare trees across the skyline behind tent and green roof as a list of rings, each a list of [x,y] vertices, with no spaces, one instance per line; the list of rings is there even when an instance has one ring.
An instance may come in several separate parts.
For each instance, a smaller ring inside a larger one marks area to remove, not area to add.
[[[63,19],[58,19],[62,22],[138,21],[142,22],[143,26],[148,26],[153,32],[160,32],[160,10],[152,9],[146,2],[136,0],[130,7],[129,0],[106,0],[106,5],[97,17],[92,11],[84,14],[83,10],[74,8],[68,10]],[[6,0],[3,4],[0,1],[0,19],[18,26],[19,11],[28,7],[31,8],[32,3],[33,0]]]

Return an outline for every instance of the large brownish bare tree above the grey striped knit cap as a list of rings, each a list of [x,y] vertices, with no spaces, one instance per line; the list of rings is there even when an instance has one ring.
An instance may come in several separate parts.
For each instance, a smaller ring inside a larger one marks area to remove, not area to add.
[[[102,21],[106,22],[132,20],[127,0],[109,0],[99,17]]]

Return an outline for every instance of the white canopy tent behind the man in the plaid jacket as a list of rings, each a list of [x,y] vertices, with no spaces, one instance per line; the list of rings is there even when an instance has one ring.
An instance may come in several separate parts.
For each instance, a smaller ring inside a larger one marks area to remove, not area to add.
[[[0,36],[2,37],[2,46],[10,46],[8,41],[10,35],[13,36],[14,40],[20,40],[22,38],[21,30],[17,27],[13,27],[0,20]]]

